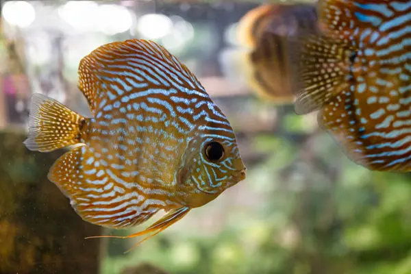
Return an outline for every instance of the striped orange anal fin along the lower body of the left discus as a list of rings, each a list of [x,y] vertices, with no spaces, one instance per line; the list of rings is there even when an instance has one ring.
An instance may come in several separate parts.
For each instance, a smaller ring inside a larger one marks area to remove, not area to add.
[[[147,221],[159,210],[142,208],[144,197],[115,182],[103,169],[97,169],[94,160],[87,146],[77,147],[58,158],[48,175],[84,221],[126,228]]]

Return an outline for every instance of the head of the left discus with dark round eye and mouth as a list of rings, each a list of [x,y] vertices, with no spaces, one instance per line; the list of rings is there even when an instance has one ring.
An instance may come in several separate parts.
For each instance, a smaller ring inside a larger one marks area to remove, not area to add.
[[[246,177],[246,167],[234,130],[227,119],[208,119],[199,126],[191,157],[186,158],[184,181],[194,190],[190,207],[203,206]]]

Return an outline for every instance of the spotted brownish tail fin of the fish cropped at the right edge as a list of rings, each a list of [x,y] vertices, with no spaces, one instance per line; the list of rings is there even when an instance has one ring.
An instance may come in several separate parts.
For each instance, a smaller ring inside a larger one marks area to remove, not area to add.
[[[295,112],[320,110],[351,81],[349,54],[353,49],[325,36],[308,35],[290,42]]]

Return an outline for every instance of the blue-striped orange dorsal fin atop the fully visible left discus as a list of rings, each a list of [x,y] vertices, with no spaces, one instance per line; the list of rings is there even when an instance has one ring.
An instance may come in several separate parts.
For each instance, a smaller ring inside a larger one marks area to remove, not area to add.
[[[79,65],[79,88],[94,114],[108,100],[149,90],[195,90],[208,97],[197,77],[164,47],[130,39],[103,45]]]

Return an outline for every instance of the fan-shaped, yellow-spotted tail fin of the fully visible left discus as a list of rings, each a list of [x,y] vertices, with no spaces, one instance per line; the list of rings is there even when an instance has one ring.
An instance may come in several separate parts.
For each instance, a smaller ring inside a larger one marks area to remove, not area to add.
[[[32,151],[49,152],[80,142],[85,118],[54,99],[36,93],[30,103],[29,134],[23,142]]]

